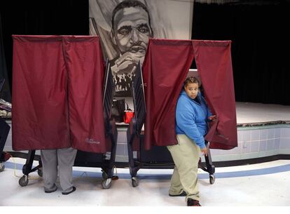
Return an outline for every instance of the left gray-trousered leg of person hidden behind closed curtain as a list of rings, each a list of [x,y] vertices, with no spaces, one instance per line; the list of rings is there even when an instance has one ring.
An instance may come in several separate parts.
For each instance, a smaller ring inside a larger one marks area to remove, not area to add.
[[[56,149],[41,150],[44,192],[50,193],[57,190],[57,151]]]

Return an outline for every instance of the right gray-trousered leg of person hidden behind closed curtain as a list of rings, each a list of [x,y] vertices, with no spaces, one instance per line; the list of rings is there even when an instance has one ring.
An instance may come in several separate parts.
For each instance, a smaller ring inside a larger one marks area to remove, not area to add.
[[[72,184],[72,167],[74,166],[76,152],[77,150],[71,147],[57,149],[58,173],[62,194],[69,194],[76,190],[76,187]]]

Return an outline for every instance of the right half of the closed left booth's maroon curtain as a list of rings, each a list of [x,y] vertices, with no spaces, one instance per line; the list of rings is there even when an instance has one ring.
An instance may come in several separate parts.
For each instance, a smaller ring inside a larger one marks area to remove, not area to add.
[[[71,144],[88,152],[106,152],[104,141],[104,62],[97,36],[64,40],[69,71],[69,127]]]

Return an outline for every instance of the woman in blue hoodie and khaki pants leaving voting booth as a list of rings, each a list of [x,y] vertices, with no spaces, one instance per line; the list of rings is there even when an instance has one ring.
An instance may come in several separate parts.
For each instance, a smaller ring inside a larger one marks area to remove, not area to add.
[[[207,156],[204,136],[207,123],[216,118],[209,111],[199,91],[200,81],[188,77],[184,81],[176,109],[177,145],[168,146],[175,163],[170,196],[186,196],[187,206],[200,206],[198,190],[198,161],[200,151]]]

